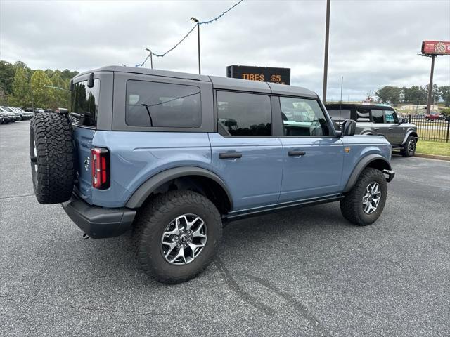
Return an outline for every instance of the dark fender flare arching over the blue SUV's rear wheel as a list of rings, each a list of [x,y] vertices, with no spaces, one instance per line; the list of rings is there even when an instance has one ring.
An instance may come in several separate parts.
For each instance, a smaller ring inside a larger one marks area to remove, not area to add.
[[[144,182],[136,191],[134,191],[133,194],[131,194],[131,197],[129,197],[125,206],[129,209],[141,207],[148,196],[162,184],[183,176],[203,176],[214,180],[215,183],[219,184],[221,188],[224,189],[226,196],[229,199],[230,209],[233,209],[233,199],[231,199],[231,194],[228,187],[226,187],[224,180],[221,180],[221,178],[212,171],[208,171],[207,169],[202,169],[197,166],[179,166],[155,174],[155,176],[148,178],[146,182]]]

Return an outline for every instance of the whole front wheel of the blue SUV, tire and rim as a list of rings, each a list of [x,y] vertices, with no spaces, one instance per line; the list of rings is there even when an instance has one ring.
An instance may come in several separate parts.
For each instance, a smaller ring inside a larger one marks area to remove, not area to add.
[[[368,167],[340,201],[342,216],[355,225],[374,223],[383,213],[387,197],[387,182],[383,172]]]

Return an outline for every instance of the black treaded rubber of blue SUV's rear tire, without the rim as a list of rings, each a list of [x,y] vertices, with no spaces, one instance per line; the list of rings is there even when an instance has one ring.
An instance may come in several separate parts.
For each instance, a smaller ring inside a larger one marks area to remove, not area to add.
[[[203,197],[202,194],[189,190],[169,191],[164,194],[159,194],[153,197],[153,199],[148,201],[145,205],[143,205],[136,216],[132,234],[133,245],[136,248],[136,258],[143,271],[151,277],[157,279],[159,282],[167,284],[186,282],[203,272],[203,270],[205,270],[207,265],[211,262],[209,261],[208,263],[203,265],[203,267],[195,270],[195,272],[192,272],[185,277],[171,277],[170,275],[165,275],[164,272],[162,272],[162,270],[158,268],[158,265],[156,265],[156,263],[149,263],[149,261],[151,262],[154,259],[152,258],[150,252],[146,251],[145,243],[150,241],[151,237],[156,232],[158,232],[157,230],[155,230],[155,228],[158,228],[158,226],[161,225],[161,219],[164,218],[167,213],[173,211],[179,206],[184,206],[190,203],[201,205],[203,206],[203,208],[208,209],[214,213],[214,218],[216,219],[217,223],[208,223],[207,225],[218,226],[217,229],[219,230],[219,237],[215,242],[213,242],[213,251],[215,254],[219,247],[222,231],[221,216],[219,214],[219,211],[217,211],[216,206],[214,206],[214,204],[212,204],[209,199]]]

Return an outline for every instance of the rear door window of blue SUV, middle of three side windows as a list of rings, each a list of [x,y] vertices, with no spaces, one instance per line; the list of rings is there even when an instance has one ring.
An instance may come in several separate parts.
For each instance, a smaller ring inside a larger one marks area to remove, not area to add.
[[[270,98],[253,93],[217,91],[219,127],[231,136],[271,136]]]

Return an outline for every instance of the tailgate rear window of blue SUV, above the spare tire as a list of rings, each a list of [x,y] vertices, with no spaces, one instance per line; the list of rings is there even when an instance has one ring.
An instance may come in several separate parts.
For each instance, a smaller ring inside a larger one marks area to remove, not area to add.
[[[100,97],[100,80],[94,79],[94,86],[87,87],[87,81],[74,84],[70,99],[70,112],[80,115],[75,124],[97,126],[98,98]]]

